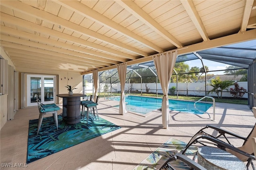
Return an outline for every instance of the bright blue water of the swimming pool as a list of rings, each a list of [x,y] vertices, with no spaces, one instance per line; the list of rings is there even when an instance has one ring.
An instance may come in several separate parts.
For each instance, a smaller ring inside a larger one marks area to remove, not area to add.
[[[114,100],[120,101],[120,97],[115,98]],[[134,111],[143,114],[162,107],[161,98],[148,98],[143,96],[126,96],[125,103],[126,109],[128,111]],[[196,103],[196,108],[202,111],[207,111],[211,106],[212,104],[208,103]],[[198,111],[194,108],[194,102],[189,101],[169,99],[169,108],[170,110],[176,110],[185,113],[203,114],[201,111]]]

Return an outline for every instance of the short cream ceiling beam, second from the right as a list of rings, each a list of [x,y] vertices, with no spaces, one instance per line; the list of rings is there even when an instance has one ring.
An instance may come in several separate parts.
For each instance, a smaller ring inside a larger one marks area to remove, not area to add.
[[[204,41],[208,41],[208,34],[206,32],[206,29],[204,27],[204,24],[198,15],[198,12],[196,11],[196,8],[193,4],[192,0],[181,0],[180,1],[185,8],[186,12],[188,13],[190,19],[194,23],[196,29],[198,30],[199,34],[201,35],[202,39]]]

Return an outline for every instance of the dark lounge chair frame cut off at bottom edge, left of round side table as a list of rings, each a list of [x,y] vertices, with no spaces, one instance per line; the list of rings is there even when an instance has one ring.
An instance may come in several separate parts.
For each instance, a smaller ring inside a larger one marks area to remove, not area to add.
[[[172,158],[168,159],[168,161],[166,161],[162,167],[160,168],[163,169],[164,167],[168,167],[168,169],[172,169],[172,170],[176,170],[172,164],[170,163],[171,161],[176,161],[176,160],[181,160],[182,162],[184,162],[185,164],[187,164],[190,167],[190,170],[206,170],[206,168],[204,168],[203,166],[201,166],[200,164],[198,164],[197,162],[191,160],[190,158],[184,156],[183,154],[180,153],[176,153]]]

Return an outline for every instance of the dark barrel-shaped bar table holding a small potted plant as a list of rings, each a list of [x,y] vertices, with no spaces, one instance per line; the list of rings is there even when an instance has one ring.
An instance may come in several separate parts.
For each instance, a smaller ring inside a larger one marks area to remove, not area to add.
[[[80,123],[80,98],[85,97],[85,94],[56,94],[63,98],[63,113],[62,117],[68,124]]]

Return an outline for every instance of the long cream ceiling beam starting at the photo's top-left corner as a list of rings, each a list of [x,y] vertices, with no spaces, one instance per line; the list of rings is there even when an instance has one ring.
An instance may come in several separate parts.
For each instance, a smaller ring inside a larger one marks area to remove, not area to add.
[[[87,29],[85,27],[82,27],[80,25],[72,23],[68,20],[60,18],[60,17],[55,16],[53,14],[50,14],[48,12],[44,12],[42,10],[39,10],[39,9],[34,8],[32,6],[29,6],[25,3],[22,3],[20,1],[18,1],[18,0],[1,1],[1,5],[6,6],[8,8],[12,8],[14,10],[17,10],[17,11],[22,12],[24,14],[27,14],[29,16],[38,18],[40,20],[48,21],[48,22],[56,24],[56,25],[61,25],[62,27],[68,28],[68,29],[70,29],[74,32],[77,32],[77,33],[80,33],[82,35],[86,35],[86,36],[89,36],[89,37],[93,37],[93,38],[98,39],[100,41],[103,41],[105,43],[108,43],[108,44],[114,45],[116,47],[120,47],[122,49],[126,49],[128,51],[131,51],[132,53],[136,53],[136,54],[139,54],[139,55],[144,54],[144,52],[142,52],[142,51],[140,51],[140,50],[138,50],[134,47],[131,47],[130,45],[126,45],[124,43],[116,41],[116,40],[114,40],[112,38],[109,38],[105,35],[94,32],[90,29]]]

